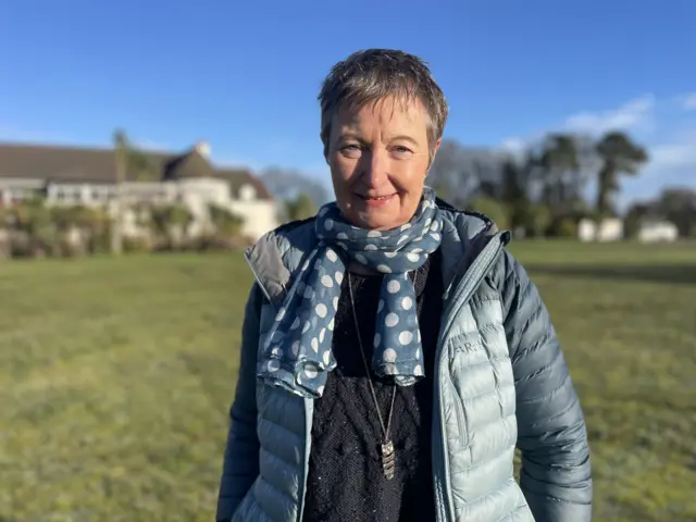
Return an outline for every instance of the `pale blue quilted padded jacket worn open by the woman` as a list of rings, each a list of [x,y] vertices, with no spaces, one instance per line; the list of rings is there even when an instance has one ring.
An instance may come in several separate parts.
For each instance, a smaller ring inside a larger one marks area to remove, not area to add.
[[[587,522],[592,473],[583,411],[549,314],[509,234],[485,216],[444,212],[444,311],[436,353],[433,481],[438,522]],[[301,522],[313,401],[262,384],[256,362],[299,266],[312,220],[246,251],[257,283],[241,361],[217,521]],[[522,453],[513,476],[515,446]]]

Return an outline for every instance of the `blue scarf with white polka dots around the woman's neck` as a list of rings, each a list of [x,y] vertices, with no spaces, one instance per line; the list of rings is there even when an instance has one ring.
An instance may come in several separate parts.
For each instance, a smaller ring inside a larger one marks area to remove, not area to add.
[[[336,203],[320,210],[318,247],[295,278],[259,358],[258,376],[306,398],[319,398],[332,353],[334,315],[350,261],[384,274],[377,304],[372,368],[410,386],[424,375],[415,293],[408,272],[418,270],[440,244],[442,216],[426,189],[413,219],[391,231],[358,228]],[[366,339],[364,339],[366,341]]]

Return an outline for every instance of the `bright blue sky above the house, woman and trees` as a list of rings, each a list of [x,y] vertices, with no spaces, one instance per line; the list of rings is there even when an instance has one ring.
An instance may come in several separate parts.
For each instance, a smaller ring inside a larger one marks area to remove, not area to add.
[[[426,59],[446,136],[518,147],[618,126],[652,162],[627,197],[696,186],[696,1],[23,0],[0,7],[0,139],[183,149],[328,179],[316,94],[366,47]]]

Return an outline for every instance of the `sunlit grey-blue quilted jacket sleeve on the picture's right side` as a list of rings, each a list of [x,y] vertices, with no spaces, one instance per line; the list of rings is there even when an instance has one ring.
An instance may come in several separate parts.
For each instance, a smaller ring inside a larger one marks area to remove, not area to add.
[[[586,522],[593,484],[583,411],[537,288],[508,251],[502,264],[521,487],[536,522]]]

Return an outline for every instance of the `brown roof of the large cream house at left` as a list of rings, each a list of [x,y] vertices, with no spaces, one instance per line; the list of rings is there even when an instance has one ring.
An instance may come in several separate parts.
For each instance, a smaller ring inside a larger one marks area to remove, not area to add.
[[[217,169],[196,148],[184,153],[138,151],[160,181],[216,177],[232,185],[237,196],[246,183],[260,199],[272,199],[263,183],[245,169]],[[137,181],[135,169],[126,179]],[[0,178],[44,179],[53,183],[115,183],[113,149],[23,144],[0,144]]]

